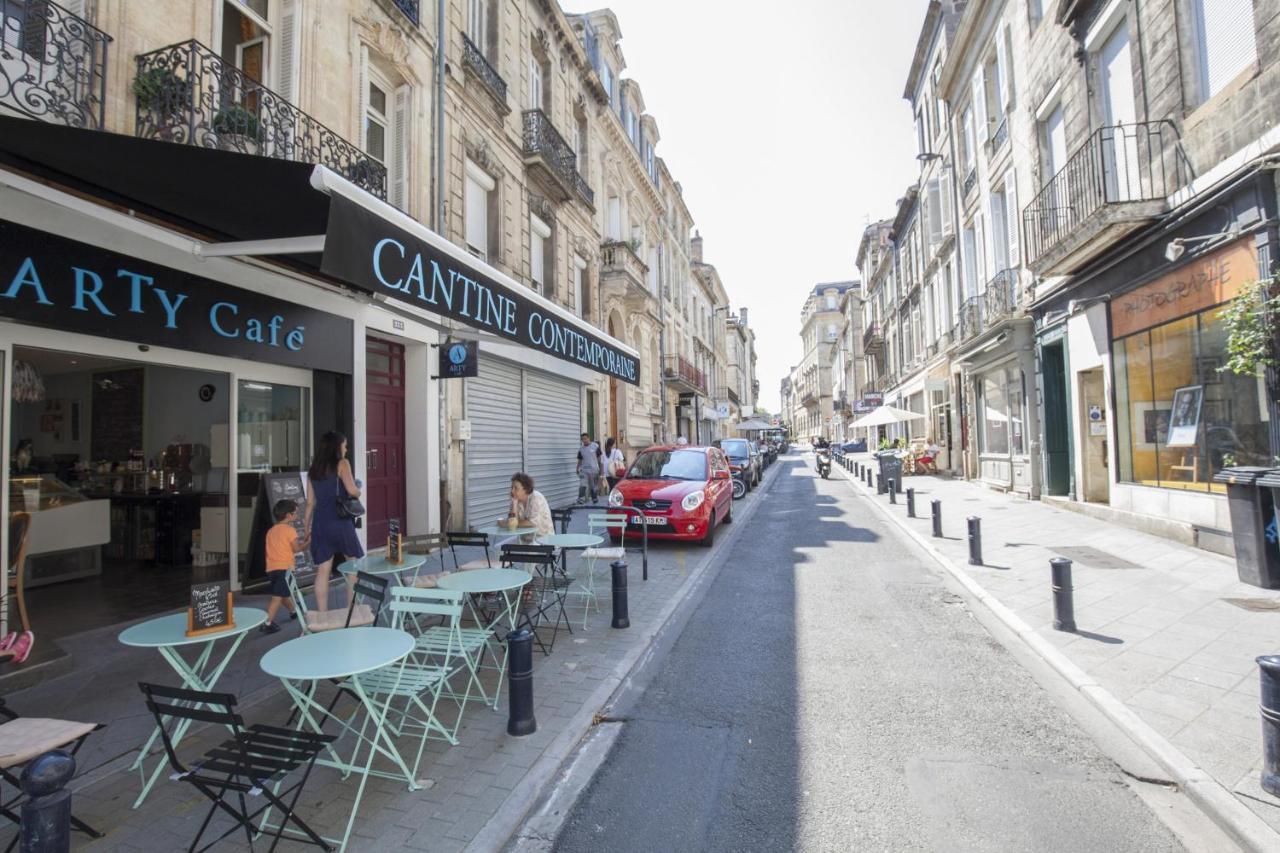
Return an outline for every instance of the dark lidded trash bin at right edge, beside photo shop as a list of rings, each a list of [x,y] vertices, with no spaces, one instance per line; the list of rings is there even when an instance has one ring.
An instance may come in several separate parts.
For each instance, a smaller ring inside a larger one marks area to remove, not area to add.
[[[1235,574],[1242,583],[1280,589],[1280,548],[1276,547],[1276,501],[1272,492],[1272,488],[1280,488],[1280,469],[1252,465],[1224,467],[1213,475],[1213,482],[1226,484]]]

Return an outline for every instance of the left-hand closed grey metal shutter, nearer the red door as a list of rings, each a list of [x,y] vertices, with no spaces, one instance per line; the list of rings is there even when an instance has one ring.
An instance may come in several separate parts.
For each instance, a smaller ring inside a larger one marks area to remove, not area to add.
[[[507,516],[511,475],[524,467],[520,368],[481,357],[479,374],[463,382],[471,421],[471,438],[465,448],[466,520],[468,526],[480,526]]]

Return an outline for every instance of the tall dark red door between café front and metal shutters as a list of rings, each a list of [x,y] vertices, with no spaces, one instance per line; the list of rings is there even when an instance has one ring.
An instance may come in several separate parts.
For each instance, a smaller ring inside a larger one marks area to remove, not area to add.
[[[365,339],[365,507],[369,547],[387,544],[387,519],[404,523],[404,347]]]

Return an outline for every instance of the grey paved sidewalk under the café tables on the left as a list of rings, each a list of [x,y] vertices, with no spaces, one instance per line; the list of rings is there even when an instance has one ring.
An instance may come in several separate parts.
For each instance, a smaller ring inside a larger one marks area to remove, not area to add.
[[[756,489],[735,503],[741,520],[767,498]],[[603,507],[602,507],[603,508]],[[361,803],[349,850],[410,849],[447,853],[492,849],[515,830],[541,785],[559,767],[591,725],[631,665],[650,644],[685,590],[732,542],[739,526],[724,526],[717,547],[654,543],[649,552],[649,580],[641,580],[639,555],[628,555],[628,603],[631,628],[613,630],[608,569],[603,571],[600,612],[593,611],[582,630],[580,605],[570,602],[573,634],[563,629],[550,656],[534,653],[534,695],[538,731],[525,738],[507,735],[506,698],[499,711],[470,704],[458,731],[458,745],[428,744],[420,777],[422,789],[408,792],[403,783],[371,779]],[[586,511],[573,517],[573,532],[586,532]],[[572,558],[571,558],[572,562]],[[598,570],[599,578],[599,570]],[[256,601],[260,598],[261,601]],[[265,597],[244,596],[241,603],[265,606]],[[218,689],[241,697],[248,722],[280,724],[289,703],[279,683],[257,666],[275,644],[297,635],[297,624],[274,637],[253,631],[241,646]],[[51,679],[5,699],[31,716],[50,716],[108,722],[82,751],[84,775],[74,788],[76,813],[104,831],[105,838],[86,841],[74,835],[74,849],[175,850],[186,849],[205,817],[206,803],[189,785],[166,777],[152,789],[138,809],[131,806],[141,783],[128,771],[136,751],[151,731],[138,681],[177,684],[177,676],[159,654],[122,647],[115,635],[123,625],[68,638],[67,651],[76,656],[72,672]],[[494,675],[486,674],[486,686]],[[205,729],[183,742],[180,752],[196,757],[219,733]],[[300,803],[300,813],[323,835],[340,836],[349,813],[356,780],[337,771],[316,768]],[[227,821],[229,826],[229,821]],[[225,829],[225,827],[224,827]],[[13,838],[13,829],[0,830],[0,847]],[[228,840],[215,849],[243,849],[243,840]]]

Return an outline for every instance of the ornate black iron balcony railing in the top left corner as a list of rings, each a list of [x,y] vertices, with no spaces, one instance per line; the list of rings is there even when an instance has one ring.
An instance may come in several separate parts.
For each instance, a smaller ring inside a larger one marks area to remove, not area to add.
[[[0,0],[0,111],[102,129],[111,37],[49,0]]]

